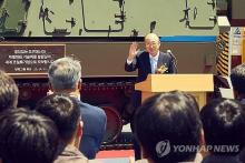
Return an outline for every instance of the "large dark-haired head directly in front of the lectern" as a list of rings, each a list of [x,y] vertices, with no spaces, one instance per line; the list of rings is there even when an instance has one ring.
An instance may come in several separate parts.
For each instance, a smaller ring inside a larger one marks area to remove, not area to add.
[[[147,99],[135,115],[136,136],[143,157],[155,163],[195,159],[197,150],[174,151],[176,145],[199,145],[202,122],[195,99],[179,91]]]

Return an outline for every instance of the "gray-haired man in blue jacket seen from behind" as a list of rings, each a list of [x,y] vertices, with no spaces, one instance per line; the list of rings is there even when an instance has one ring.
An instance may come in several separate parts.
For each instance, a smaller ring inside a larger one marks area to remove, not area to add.
[[[80,151],[88,159],[95,159],[106,133],[107,116],[102,109],[80,101],[81,65],[71,58],[53,61],[48,70],[50,91],[67,93],[77,100],[84,121]]]

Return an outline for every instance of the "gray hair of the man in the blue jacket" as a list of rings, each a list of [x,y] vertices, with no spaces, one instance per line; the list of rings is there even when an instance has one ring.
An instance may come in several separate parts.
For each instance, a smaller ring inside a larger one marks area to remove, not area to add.
[[[81,64],[71,58],[58,59],[49,65],[48,77],[55,90],[76,89],[81,78]]]

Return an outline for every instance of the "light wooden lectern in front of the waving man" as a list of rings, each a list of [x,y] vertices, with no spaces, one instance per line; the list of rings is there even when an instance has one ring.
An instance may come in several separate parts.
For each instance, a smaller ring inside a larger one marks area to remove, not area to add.
[[[207,101],[207,92],[214,91],[213,74],[149,74],[147,79],[135,85],[141,91],[141,101],[147,98],[174,90],[193,94],[202,109]]]

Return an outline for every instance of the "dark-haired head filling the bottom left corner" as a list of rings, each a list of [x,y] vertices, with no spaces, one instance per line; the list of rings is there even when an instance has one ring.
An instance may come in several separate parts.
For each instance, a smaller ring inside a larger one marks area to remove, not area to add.
[[[52,163],[59,151],[57,126],[36,111],[14,109],[0,114],[2,163]]]

